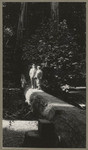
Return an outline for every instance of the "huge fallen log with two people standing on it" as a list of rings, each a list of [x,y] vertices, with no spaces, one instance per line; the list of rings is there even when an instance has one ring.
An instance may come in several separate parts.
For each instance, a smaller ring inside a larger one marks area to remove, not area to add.
[[[58,137],[64,141],[63,147],[86,147],[86,112],[60,100],[42,90],[28,89],[26,101],[31,103],[35,114],[55,124]]]

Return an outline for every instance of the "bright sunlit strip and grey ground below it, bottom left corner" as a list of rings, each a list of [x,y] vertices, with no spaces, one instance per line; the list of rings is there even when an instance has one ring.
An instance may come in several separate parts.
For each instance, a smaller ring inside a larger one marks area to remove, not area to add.
[[[3,120],[3,147],[22,147],[25,132],[38,130],[38,121]]]

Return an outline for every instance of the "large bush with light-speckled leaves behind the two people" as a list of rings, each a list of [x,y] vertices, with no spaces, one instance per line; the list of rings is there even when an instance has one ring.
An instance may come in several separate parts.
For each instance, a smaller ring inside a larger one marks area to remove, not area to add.
[[[83,53],[76,36],[74,31],[70,32],[65,19],[60,23],[51,19],[43,21],[23,45],[24,68],[32,63],[41,65],[43,86],[50,89],[56,90],[62,84],[84,86],[85,59],[81,57]]]

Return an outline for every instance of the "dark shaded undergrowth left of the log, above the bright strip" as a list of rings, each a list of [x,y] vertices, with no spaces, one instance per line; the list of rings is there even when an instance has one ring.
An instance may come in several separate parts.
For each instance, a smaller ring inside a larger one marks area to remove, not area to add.
[[[3,90],[3,119],[6,120],[35,120],[30,106],[25,103],[21,89]]]

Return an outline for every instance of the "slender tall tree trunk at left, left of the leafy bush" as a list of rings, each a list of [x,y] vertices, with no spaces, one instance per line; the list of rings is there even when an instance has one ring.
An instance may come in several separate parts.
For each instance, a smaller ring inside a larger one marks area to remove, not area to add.
[[[20,14],[19,14],[19,20],[18,20],[18,28],[17,28],[17,41],[16,41],[16,47],[14,51],[14,72],[16,75],[16,82],[17,85],[20,86],[20,79],[21,79],[21,73],[22,73],[22,63],[21,63],[21,56],[22,56],[22,43],[26,36],[26,23],[27,23],[27,3],[21,3],[20,7]]]

